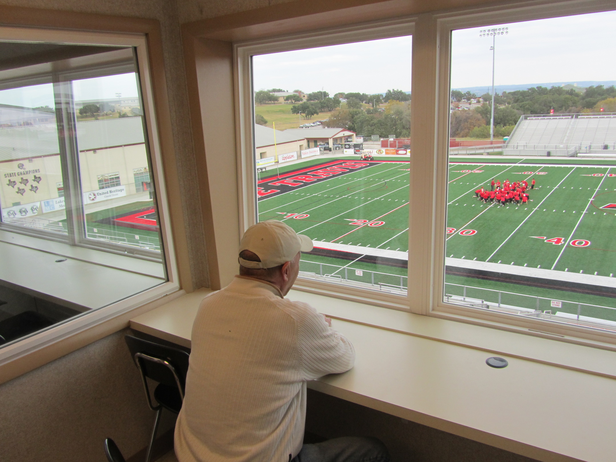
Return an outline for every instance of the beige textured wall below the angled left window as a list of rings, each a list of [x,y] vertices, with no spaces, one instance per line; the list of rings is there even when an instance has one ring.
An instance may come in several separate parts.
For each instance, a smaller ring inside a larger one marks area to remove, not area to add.
[[[104,462],[103,440],[127,458],[148,443],[154,412],[120,331],[0,385],[0,460]],[[163,413],[160,434],[174,424]]]

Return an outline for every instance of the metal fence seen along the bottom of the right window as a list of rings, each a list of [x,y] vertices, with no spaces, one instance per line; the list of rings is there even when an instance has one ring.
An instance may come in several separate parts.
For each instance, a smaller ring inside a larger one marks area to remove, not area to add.
[[[537,317],[560,317],[616,326],[616,308],[445,283],[445,301]]]

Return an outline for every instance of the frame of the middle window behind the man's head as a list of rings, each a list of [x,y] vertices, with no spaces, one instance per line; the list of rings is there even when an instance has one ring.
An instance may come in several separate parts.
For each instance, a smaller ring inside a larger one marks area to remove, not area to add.
[[[357,23],[336,28],[326,28],[307,33],[285,34],[233,43],[233,71],[235,76],[235,127],[237,138],[237,184],[240,210],[240,236],[256,223],[256,163],[253,129],[253,55],[293,51],[298,49],[355,43],[397,36],[413,36],[416,16],[405,16]],[[413,40],[413,48],[414,48]],[[335,284],[299,277],[294,288],[315,293],[336,293],[356,301],[397,310],[408,311],[408,295],[379,293],[350,285]]]

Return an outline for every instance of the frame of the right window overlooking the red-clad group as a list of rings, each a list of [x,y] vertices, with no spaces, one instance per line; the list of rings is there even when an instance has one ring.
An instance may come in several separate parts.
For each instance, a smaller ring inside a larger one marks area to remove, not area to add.
[[[564,17],[578,14],[611,11],[616,9],[614,3],[604,0],[583,1],[538,1],[530,4],[512,2],[505,6],[477,7],[443,12],[431,15],[430,28],[434,30],[438,43],[437,70],[437,100],[435,132],[437,142],[436,156],[436,195],[434,207],[434,260],[432,264],[432,304],[421,314],[440,318],[462,320],[464,322],[480,323],[482,325],[508,330],[521,331],[526,334],[537,334],[552,339],[568,339],[578,337],[616,343],[616,331],[601,328],[601,326],[582,326],[552,319],[522,317],[520,315],[495,312],[480,308],[464,307],[450,304],[443,300],[445,282],[445,227],[447,217],[447,164],[449,135],[449,92],[450,92],[450,57],[451,33],[453,30],[475,28],[504,23],[524,22],[546,18]]]

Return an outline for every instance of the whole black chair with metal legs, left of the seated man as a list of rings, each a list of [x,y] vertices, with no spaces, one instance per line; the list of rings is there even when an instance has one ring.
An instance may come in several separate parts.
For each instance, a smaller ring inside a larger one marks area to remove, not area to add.
[[[150,444],[145,456],[145,462],[150,462],[152,445],[163,408],[176,414],[182,408],[186,373],[188,372],[188,353],[132,335],[126,335],[124,339],[131,351],[132,359],[141,373],[148,405],[150,409],[156,411],[152,437],[150,437]],[[152,404],[147,377],[158,382],[158,386],[154,389],[154,398],[158,402],[157,406]]]

